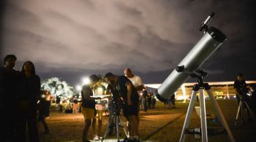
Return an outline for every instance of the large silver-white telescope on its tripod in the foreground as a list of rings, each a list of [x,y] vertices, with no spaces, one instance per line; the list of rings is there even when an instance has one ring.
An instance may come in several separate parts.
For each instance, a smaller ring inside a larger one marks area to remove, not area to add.
[[[227,133],[230,141],[235,141],[230,128],[225,121],[225,117],[222,114],[221,109],[217,103],[217,100],[214,98],[213,93],[211,92],[211,87],[208,83],[203,82],[203,77],[208,74],[200,70],[203,63],[222,45],[223,42],[227,39],[225,34],[223,34],[219,29],[210,27],[208,28],[208,23],[210,23],[211,18],[214,16],[214,12],[206,18],[202,23],[199,31],[203,31],[203,37],[195,44],[192,50],[185,56],[181,63],[176,66],[174,71],[165,79],[161,86],[156,90],[154,95],[161,101],[169,99],[174,92],[181,86],[184,82],[187,81],[189,76],[197,79],[197,84],[194,85],[191,99],[189,101],[189,106],[187,114],[184,121],[184,126],[181,132],[181,138],[179,142],[184,142],[187,134],[191,133],[189,131],[189,122],[192,117],[193,107],[195,105],[195,99],[197,92],[199,92],[200,100],[200,124],[201,127],[198,132],[192,131],[192,133],[200,133],[203,142],[208,141],[208,134],[210,135],[211,131],[208,131],[206,123],[206,101],[204,96],[204,90],[208,93],[208,96],[211,100],[212,105],[214,106],[214,111],[217,114],[218,121],[225,128],[225,133]],[[216,132],[214,132],[216,133]]]

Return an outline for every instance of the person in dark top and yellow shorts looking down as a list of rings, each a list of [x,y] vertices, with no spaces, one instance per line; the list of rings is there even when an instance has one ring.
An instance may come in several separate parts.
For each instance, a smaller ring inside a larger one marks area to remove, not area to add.
[[[89,76],[90,83],[85,84],[81,90],[82,95],[82,114],[85,119],[85,126],[83,127],[83,142],[89,142],[88,140],[88,133],[89,127],[91,126],[91,120],[94,119],[95,110],[95,99],[92,98],[94,93],[92,92],[91,88],[95,86],[95,84],[99,81],[97,75]],[[98,98],[100,99],[100,98]]]

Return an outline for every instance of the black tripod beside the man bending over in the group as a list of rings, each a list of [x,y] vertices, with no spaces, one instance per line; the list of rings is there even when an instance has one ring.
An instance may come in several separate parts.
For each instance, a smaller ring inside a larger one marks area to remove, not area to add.
[[[110,133],[110,130],[113,127],[116,127],[116,138],[117,141],[120,141],[120,130],[119,128],[124,129],[124,134],[127,136],[127,130],[124,128],[123,123],[121,122],[121,117],[120,117],[120,104],[116,103],[117,101],[113,100],[113,113],[110,116],[110,122],[108,124],[107,130],[105,134],[103,135],[102,141],[106,138],[106,136]]]

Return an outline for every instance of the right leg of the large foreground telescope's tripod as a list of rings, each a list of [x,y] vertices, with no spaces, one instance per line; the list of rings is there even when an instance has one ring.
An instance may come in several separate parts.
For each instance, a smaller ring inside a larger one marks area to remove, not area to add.
[[[217,100],[214,98],[214,95],[211,93],[211,90],[207,90],[207,92],[208,92],[208,95],[209,95],[209,97],[211,99],[211,103],[214,106],[214,109],[216,111],[217,117],[218,117],[219,121],[222,123],[222,126],[225,127],[225,130],[227,131],[227,135],[229,136],[230,141],[235,142],[235,138],[233,137],[233,135],[232,135],[232,133],[230,131],[230,128],[227,125],[225,117],[223,116],[222,111],[219,108],[219,105],[217,103]]]

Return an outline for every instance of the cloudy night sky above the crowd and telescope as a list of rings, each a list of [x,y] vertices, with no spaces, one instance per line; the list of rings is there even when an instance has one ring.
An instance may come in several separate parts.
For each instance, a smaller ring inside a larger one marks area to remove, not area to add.
[[[1,1],[1,59],[15,54],[15,69],[31,60],[41,79],[81,77],[129,67],[144,83],[162,83],[211,25],[227,41],[201,69],[206,81],[256,79],[255,7],[246,0],[7,0]],[[2,60],[1,60],[2,63]],[[189,82],[191,79],[189,80]],[[193,81],[193,80],[192,80]]]

